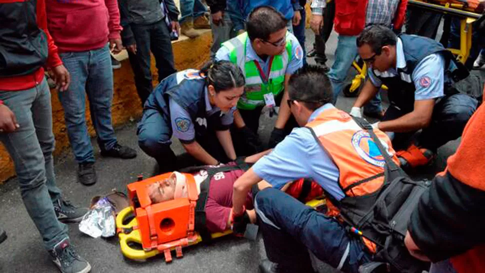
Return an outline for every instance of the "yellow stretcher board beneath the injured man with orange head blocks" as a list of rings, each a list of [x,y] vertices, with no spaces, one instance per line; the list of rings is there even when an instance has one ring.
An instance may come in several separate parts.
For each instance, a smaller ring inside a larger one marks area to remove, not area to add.
[[[306,203],[306,205],[317,208],[325,204],[325,199],[314,199]],[[131,218],[131,219],[130,219]],[[126,222],[127,221],[127,222]],[[128,206],[121,210],[116,216],[116,229],[118,231],[119,245],[121,247],[121,253],[128,259],[136,261],[145,261],[147,258],[153,257],[160,254],[156,248],[145,251],[141,247],[136,247],[136,245],[141,246],[141,235],[139,229],[137,229],[138,221],[134,217],[133,207]],[[211,237],[218,238],[227,234],[232,233],[232,230],[226,230],[224,232],[212,233]],[[187,240],[187,245],[194,245],[202,241],[202,238],[198,233],[195,233],[193,238]],[[175,247],[170,248],[170,250],[177,250]],[[176,257],[182,257],[181,251],[176,251]],[[169,260],[166,260],[169,262]]]

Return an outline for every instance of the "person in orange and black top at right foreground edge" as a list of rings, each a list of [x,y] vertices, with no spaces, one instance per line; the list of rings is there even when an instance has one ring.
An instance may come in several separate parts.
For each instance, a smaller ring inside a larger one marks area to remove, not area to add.
[[[471,116],[446,169],[411,214],[405,244],[429,273],[485,271],[485,106]]]

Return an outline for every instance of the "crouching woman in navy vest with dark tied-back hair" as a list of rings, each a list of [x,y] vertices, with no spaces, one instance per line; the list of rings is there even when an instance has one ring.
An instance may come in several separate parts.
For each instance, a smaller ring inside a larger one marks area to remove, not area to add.
[[[174,73],[153,90],[138,124],[138,144],[156,159],[159,172],[176,169],[171,136],[203,164],[236,158],[229,126],[244,91],[244,75],[229,61]]]

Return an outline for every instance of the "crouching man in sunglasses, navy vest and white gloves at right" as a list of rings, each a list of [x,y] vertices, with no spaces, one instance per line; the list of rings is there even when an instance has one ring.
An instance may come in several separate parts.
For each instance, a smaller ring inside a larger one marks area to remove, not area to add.
[[[366,27],[357,37],[357,47],[369,67],[368,79],[350,114],[360,117],[361,106],[385,84],[390,106],[373,126],[392,132],[403,167],[429,164],[438,147],[461,135],[476,109],[477,100],[466,93],[480,90],[458,90],[454,85],[469,72],[440,43],[416,35],[396,36],[379,25]]]

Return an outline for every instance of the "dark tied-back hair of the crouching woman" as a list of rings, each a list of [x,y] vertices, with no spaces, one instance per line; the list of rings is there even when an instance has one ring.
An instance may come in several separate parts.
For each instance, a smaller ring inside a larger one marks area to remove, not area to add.
[[[207,85],[214,86],[216,93],[245,85],[239,66],[228,60],[209,60],[200,68],[199,73],[205,76]]]

